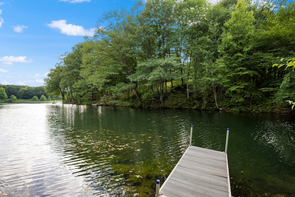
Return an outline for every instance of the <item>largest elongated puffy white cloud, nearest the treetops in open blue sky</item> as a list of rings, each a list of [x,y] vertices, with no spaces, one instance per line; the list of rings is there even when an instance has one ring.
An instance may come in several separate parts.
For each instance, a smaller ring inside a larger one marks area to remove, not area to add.
[[[66,20],[53,20],[50,24],[47,24],[48,27],[57,28],[62,34],[73,35],[73,36],[92,36],[94,35],[94,28],[89,30],[84,29],[84,27],[79,25],[67,24]]]

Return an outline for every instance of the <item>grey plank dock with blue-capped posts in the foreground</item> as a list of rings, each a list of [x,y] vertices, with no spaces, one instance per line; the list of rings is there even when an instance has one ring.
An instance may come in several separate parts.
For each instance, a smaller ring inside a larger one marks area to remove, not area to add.
[[[192,136],[191,126],[191,136]],[[155,197],[231,197],[230,176],[225,152],[191,146],[174,167],[160,188],[156,183]]]

